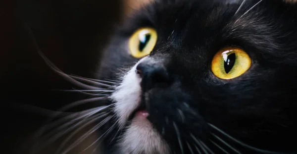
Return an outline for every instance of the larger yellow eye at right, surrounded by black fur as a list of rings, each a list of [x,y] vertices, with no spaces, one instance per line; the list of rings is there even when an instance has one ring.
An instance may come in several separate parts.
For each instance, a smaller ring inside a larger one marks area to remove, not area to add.
[[[211,71],[221,79],[236,78],[245,73],[251,65],[248,54],[237,47],[218,51],[211,62]]]

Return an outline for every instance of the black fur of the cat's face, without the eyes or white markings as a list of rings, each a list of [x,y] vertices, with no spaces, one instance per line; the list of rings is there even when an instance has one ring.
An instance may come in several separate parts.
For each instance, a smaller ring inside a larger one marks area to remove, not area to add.
[[[128,51],[128,39],[140,27],[158,34],[149,55],[166,68],[164,80],[143,81],[148,120],[181,154],[174,121],[179,128],[184,154],[194,149],[193,134],[215,154],[223,154],[212,141],[213,133],[244,154],[250,148],[226,138],[211,123],[232,137],[258,149],[297,153],[297,4],[282,0],[160,0],[136,12],[119,26],[101,59],[99,79],[120,80],[119,68],[130,68],[138,59]],[[213,75],[214,54],[226,46],[243,48],[252,66],[240,77],[222,80]],[[142,69],[151,67],[143,62]],[[159,69],[151,68],[153,69]],[[146,72],[145,75],[155,72]],[[145,77],[144,77],[145,78]],[[183,119],[178,110],[181,110]],[[170,124],[166,124],[168,117]],[[108,126],[106,126],[108,128]],[[110,135],[112,138],[114,133]],[[105,141],[106,148],[113,144]],[[230,154],[226,145],[218,143]],[[108,153],[108,152],[106,152]]]

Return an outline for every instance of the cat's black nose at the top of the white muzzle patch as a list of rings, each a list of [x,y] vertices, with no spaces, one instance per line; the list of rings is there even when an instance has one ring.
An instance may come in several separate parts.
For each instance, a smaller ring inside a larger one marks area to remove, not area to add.
[[[137,74],[142,78],[143,91],[168,84],[169,75],[162,63],[144,61],[137,65]]]

